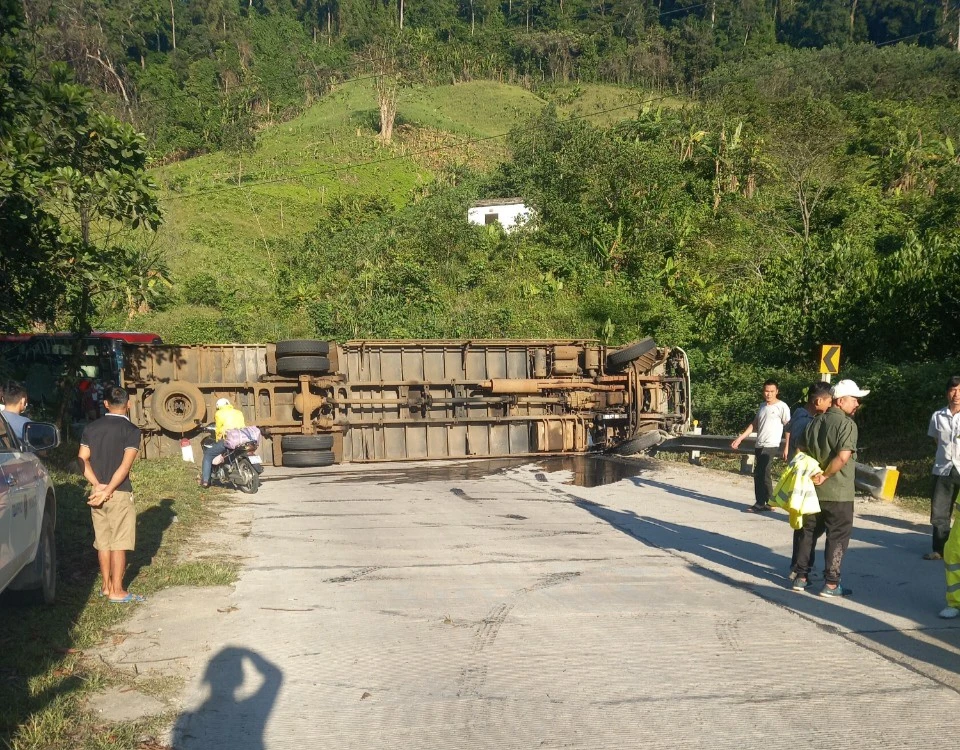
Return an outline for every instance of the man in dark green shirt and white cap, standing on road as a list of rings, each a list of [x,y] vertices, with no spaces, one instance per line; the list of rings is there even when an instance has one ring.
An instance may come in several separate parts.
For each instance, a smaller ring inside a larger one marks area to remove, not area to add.
[[[857,459],[857,424],[853,415],[860,399],[870,391],[861,390],[852,380],[841,380],[833,387],[833,406],[817,415],[804,431],[807,455],[820,464],[820,474],[813,478],[817,486],[820,512],[804,516],[803,537],[797,549],[797,578],[794,591],[809,585],[810,550],[821,533],[827,535],[825,581],[820,596],[843,596],[848,591],[840,585],[840,566],[853,531],[854,475]]]

